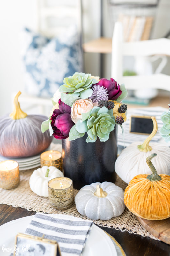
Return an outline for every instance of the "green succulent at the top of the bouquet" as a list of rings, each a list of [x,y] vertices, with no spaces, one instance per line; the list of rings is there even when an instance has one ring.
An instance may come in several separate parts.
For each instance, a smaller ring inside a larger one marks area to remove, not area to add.
[[[92,84],[98,81],[91,78],[91,74],[74,73],[73,76],[65,77],[63,85],[60,86],[60,92],[67,92],[69,94],[74,93],[75,96],[80,96],[82,99],[86,99],[92,95]]]

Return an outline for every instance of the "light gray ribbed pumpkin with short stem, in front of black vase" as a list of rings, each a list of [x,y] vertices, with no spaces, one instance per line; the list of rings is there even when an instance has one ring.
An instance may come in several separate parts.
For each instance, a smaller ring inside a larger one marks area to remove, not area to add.
[[[124,212],[124,191],[111,182],[96,182],[80,189],[76,209],[92,220],[110,220]]]

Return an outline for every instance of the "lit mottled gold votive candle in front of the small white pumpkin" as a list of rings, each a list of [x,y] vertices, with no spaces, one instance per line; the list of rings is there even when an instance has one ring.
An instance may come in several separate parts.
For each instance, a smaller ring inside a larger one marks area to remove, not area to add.
[[[60,187],[61,184],[63,187]],[[74,202],[73,181],[67,177],[57,177],[49,180],[48,199],[57,210],[69,208]]]

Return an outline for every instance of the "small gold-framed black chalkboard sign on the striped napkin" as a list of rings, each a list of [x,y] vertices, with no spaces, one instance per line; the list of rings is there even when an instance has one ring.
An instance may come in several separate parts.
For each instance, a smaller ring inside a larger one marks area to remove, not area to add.
[[[151,116],[131,116],[130,133],[149,135],[153,131]]]

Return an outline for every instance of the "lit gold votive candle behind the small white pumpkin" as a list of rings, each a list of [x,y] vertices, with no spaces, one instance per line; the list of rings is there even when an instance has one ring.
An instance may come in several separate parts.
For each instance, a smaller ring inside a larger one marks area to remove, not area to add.
[[[62,154],[56,150],[48,150],[40,155],[40,164],[43,166],[55,166],[63,171]]]

